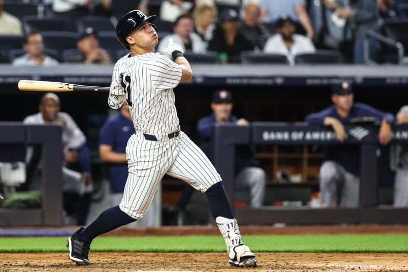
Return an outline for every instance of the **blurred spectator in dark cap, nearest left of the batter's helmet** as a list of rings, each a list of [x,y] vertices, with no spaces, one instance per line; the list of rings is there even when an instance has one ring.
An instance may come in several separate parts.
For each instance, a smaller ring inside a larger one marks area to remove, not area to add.
[[[111,58],[104,48],[99,47],[98,34],[92,28],[86,28],[77,43],[79,54],[70,57],[69,62],[85,64],[110,64]]]

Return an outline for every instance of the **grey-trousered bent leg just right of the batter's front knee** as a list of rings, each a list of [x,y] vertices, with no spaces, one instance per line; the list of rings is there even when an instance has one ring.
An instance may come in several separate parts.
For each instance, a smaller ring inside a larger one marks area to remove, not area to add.
[[[261,207],[265,197],[266,173],[259,167],[245,167],[235,178],[235,188],[249,188],[251,207]]]

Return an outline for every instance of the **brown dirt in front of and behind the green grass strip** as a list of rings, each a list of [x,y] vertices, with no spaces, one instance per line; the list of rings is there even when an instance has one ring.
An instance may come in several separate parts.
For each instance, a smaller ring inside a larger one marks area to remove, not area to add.
[[[216,227],[118,229],[115,236],[216,234]],[[242,226],[245,234],[408,233],[408,226]],[[90,266],[78,266],[68,253],[0,253],[0,271],[408,271],[408,253],[256,253],[259,266],[238,268],[226,253],[92,252]]]

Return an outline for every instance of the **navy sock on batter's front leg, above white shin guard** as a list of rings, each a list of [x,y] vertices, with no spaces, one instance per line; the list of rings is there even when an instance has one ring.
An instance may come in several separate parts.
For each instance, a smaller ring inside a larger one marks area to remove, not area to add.
[[[228,219],[234,219],[233,209],[231,208],[230,200],[225,193],[222,181],[217,182],[206,191],[208,205],[210,206],[211,215],[214,220],[218,216]]]

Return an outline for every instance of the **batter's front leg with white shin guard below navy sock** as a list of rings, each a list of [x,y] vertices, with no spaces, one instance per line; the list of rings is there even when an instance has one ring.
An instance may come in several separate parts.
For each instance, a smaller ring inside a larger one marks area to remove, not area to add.
[[[242,241],[237,220],[217,170],[187,135],[181,132],[179,138],[177,155],[167,174],[206,193],[211,215],[224,238],[230,264],[257,266],[255,256]]]

